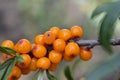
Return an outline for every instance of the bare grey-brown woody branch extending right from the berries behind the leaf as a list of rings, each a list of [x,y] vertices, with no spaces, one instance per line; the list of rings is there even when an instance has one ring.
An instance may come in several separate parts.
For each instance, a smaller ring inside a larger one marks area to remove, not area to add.
[[[75,42],[80,46],[87,46],[89,49],[101,45],[99,40],[76,40]],[[111,39],[110,44],[112,46],[120,45],[120,39]]]

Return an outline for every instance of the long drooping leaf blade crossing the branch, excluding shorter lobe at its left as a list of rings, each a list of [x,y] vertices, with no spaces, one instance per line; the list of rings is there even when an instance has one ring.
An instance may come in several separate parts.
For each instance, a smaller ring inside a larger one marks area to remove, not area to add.
[[[99,40],[103,47],[109,52],[112,52],[110,46],[110,39],[112,38],[115,29],[115,23],[119,16],[120,16],[120,1],[112,4],[109,7],[109,10],[107,11],[106,16],[104,17],[101,23]]]

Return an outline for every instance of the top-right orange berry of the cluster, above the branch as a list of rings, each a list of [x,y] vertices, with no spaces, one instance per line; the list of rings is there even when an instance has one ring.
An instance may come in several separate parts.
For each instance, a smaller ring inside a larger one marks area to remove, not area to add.
[[[70,29],[72,33],[72,38],[81,37],[83,35],[83,30],[80,26],[73,26]]]

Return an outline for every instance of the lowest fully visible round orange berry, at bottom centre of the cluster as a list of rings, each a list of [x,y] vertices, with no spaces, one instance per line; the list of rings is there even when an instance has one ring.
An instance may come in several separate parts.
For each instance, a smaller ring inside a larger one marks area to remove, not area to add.
[[[41,69],[41,70],[46,70],[50,67],[51,62],[47,57],[42,57],[40,59],[38,59],[36,66],[37,68]]]

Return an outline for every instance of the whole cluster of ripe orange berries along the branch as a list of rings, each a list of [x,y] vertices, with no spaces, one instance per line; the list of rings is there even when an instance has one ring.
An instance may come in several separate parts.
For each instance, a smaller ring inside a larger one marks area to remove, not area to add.
[[[72,61],[78,55],[84,61],[91,59],[91,50],[79,46],[73,40],[81,38],[82,35],[80,26],[73,26],[70,30],[52,27],[44,34],[37,35],[33,44],[27,39],[20,39],[15,45],[11,40],[3,41],[1,46],[15,50],[24,59],[24,62],[15,65],[8,80],[13,77],[17,80],[21,74],[28,74],[37,69],[54,71],[63,59]],[[14,56],[2,53],[3,61],[12,57]]]

